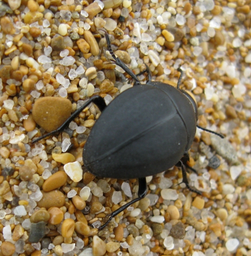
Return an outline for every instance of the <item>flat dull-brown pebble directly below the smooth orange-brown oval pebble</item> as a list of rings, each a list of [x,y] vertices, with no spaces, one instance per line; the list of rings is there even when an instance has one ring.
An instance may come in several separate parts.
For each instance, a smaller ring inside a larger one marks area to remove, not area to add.
[[[64,194],[58,190],[52,190],[50,192],[41,191],[43,194],[43,198],[37,202],[38,207],[45,209],[49,209],[53,206],[55,207],[62,207],[65,202]]]

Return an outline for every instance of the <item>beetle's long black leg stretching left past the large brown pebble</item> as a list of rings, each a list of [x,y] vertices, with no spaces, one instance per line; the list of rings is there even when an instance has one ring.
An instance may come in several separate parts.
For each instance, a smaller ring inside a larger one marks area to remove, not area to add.
[[[60,127],[58,127],[58,129],[33,140],[32,143],[40,141],[50,135],[62,132],[67,126],[69,126],[70,122],[74,118],[76,118],[84,110],[84,108],[86,108],[91,102],[93,102],[95,105],[97,105],[97,107],[100,109],[101,112],[106,108],[104,99],[99,95],[95,95],[89,101],[86,101],[83,106],[78,108]]]

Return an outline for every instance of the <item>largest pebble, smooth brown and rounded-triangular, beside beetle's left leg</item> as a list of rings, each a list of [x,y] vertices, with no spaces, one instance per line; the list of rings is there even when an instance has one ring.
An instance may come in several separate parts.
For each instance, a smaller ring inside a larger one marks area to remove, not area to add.
[[[32,116],[47,132],[54,131],[71,115],[71,101],[61,97],[42,97],[35,101]]]

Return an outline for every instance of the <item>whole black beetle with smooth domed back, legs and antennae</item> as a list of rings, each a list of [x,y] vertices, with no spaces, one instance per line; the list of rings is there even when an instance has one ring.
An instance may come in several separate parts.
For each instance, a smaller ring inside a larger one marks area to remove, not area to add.
[[[101,96],[92,97],[57,130],[32,141],[64,130],[91,102],[101,110],[102,115],[91,129],[84,146],[84,165],[97,176],[138,178],[139,191],[137,198],[112,212],[100,229],[112,217],[146,195],[146,176],[161,173],[174,165],[181,167],[182,182],[187,188],[200,193],[189,187],[185,168],[185,163],[189,161],[188,150],[193,143],[196,126],[199,126],[195,101],[180,89],[182,70],[178,69],[181,74],[177,88],[174,88],[169,84],[151,81],[151,73],[146,66],[148,81],[142,85],[137,76],[113,53],[109,35],[105,34],[105,37],[114,62],[135,80],[134,87],[119,94],[108,107]]]

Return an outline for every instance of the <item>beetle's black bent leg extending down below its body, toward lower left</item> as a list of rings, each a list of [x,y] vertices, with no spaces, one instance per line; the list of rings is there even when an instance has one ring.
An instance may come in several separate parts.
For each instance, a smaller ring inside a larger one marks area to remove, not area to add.
[[[119,209],[116,209],[115,211],[113,211],[112,213],[110,213],[109,219],[107,222],[105,222],[101,227],[99,227],[99,229],[103,229],[105,226],[108,225],[108,223],[111,221],[111,219],[113,217],[115,217],[116,215],[118,215],[119,213],[121,213],[123,210],[127,209],[130,205],[132,205],[135,202],[140,201],[142,198],[144,198],[147,194],[147,181],[146,178],[139,178],[139,190],[138,190],[138,197],[133,199],[131,202],[126,203],[125,205],[121,206]]]

